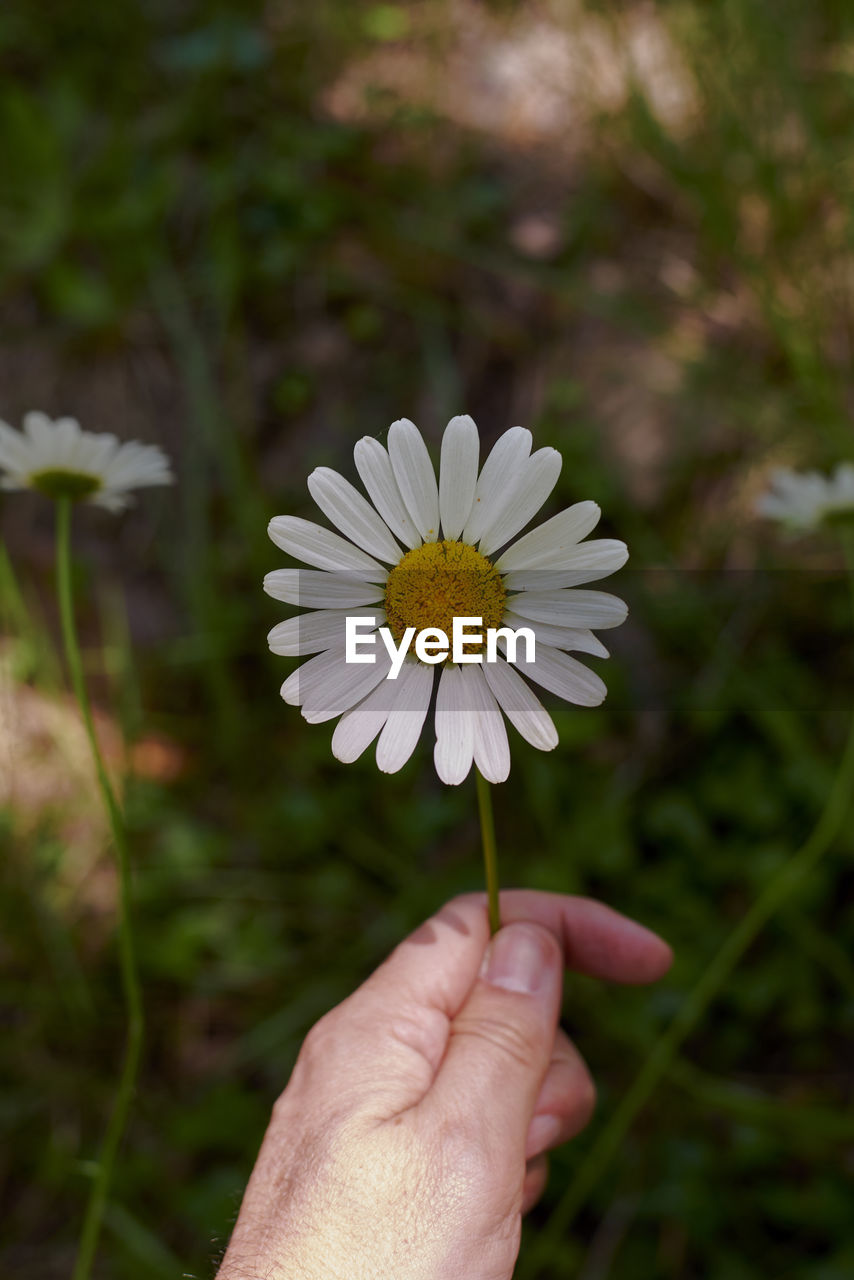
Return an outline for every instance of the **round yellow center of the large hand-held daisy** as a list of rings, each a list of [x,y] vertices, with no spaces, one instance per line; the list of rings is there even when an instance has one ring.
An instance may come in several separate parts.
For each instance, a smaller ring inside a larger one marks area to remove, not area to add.
[[[506,594],[495,566],[474,547],[424,543],[388,575],[385,617],[398,644],[407,627],[438,627],[449,636],[455,617],[481,618],[484,630],[499,627]],[[481,648],[466,645],[469,653]]]

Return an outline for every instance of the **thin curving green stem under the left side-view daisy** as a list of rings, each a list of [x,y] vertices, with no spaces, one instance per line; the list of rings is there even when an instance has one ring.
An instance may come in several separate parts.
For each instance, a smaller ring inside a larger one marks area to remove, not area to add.
[[[115,1156],[127,1125],[128,1111],[133,1089],[136,1085],[142,1050],[142,993],[140,977],[137,974],[136,951],[133,945],[133,928],[131,918],[131,860],[128,856],[127,833],[124,818],[115,799],[115,792],[108,776],[104,756],[97,744],[95,722],[92,721],[92,708],[86,691],[83,678],[83,662],[81,658],[77,627],[74,623],[74,604],[72,595],[72,499],[59,498],[56,503],[56,590],[59,595],[59,614],[63,627],[63,643],[68,669],[72,677],[74,696],[79,703],[86,736],[95,762],[97,785],[101,791],[104,808],[110,822],[113,844],[115,847],[119,869],[119,957],[122,964],[122,988],[127,1009],[127,1039],[122,1073],[115,1091],[113,1110],[101,1143],[97,1167],[86,1206],[86,1216],[74,1263],[73,1280],[88,1280],[95,1261],[97,1240],[104,1221]]]

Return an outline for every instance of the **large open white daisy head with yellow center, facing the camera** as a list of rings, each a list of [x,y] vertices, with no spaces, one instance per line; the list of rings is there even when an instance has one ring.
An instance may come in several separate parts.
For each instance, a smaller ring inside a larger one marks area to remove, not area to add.
[[[479,452],[474,421],[452,419],[437,484],[420,431],[401,419],[389,429],[388,448],[370,436],[356,444],[370,502],[329,467],[309,476],[309,492],[343,538],[296,516],[270,521],[277,547],[312,566],[275,570],[264,580],[274,599],[312,611],[270,631],[274,653],[316,655],[284,681],[282,696],[310,723],[342,717],[332,740],[339,760],[357,759],[379,739],[379,768],[397,772],[420,737],[437,669],[434,760],[448,783],[462,782],[472,762],[487,781],[503,782],[504,716],[533,746],[557,745],[552,717],[529,680],[581,707],[597,707],[606,695],[599,676],[570,652],[606,658],[592,628],[618,626],[626,605],[577,588],[625,564],[625,543],[581,541],[599,520],[595,502],[579,502],[513,541],[554,488],[561,456],[548,448],[531,453],[531,434],[521,426],[504,431],[480,470]],[[530,627],[534,660],[526,660],[524,645],[515,662],[506,660],[503,646],[497,662],[444,660],[439,668],[410,653],[399,676],[387,680],[383,644],[374,664],[344,660],[348,616],[388,626],[398,643],[410,626],[451,635],[455,616],[480,617],[484,628]]]

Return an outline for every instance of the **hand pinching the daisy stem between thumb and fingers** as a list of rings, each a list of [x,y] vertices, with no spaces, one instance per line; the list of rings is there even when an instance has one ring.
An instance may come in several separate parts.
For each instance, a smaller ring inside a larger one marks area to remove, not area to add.
[[[423,924],[314,1027],[219,1280],[508,1280],[545,1152],[594,1088],[558,1029],[563,965],[659,978],[654,933],[586,899],[483,895]]]

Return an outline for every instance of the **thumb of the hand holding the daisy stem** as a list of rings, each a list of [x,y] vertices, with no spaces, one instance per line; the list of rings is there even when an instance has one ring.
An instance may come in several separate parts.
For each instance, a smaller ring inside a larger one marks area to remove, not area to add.
[[[465,1114],[503,1157],[524,1157],[528,1128],[548,1069],[561,1006],[563,959],[539,924],[499,929],[480,975],[453,1019],[433,1101]],[[462,1110],[461,1110],[462,1108]]]

